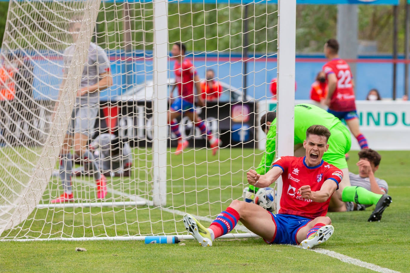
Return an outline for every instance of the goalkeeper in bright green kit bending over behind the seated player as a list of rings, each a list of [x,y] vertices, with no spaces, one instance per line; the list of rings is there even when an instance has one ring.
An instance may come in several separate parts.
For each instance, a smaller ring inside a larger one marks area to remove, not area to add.
[[[294,122],[294,156],[303,156],[305,154],[303,140],[306,139],[307,128],[314,124],[321,124],[330,130],[329,149],[324,153],[323,160],[341,169],[344,175],[339,183],[339,190],[330,199],[328,210],[333,212],[347,211],[345,202],[376,205],[368,221],[380,221],[383,211],[390,205],[392,198],[387,194],[375,194],[363,187],[351,186],[345,157],[351,147],[351,135],[346,126],[334,115],[312,104],[297,104],[295,106]],[[256,168],[256,172],[262,175],[271,169],[275,159],[276,112],[266,113],[262,116],[260,123],[261,129],[266,133],[266,151]],[[257,190],[258,188],[249,185],[244,190],[244,200],[252,202]]]

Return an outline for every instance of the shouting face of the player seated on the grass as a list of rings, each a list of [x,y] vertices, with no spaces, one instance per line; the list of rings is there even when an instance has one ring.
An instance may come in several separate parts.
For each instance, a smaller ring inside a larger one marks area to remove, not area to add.
[[[329,144],[324,136],[309,134],[303,141],[303,148],[306,149],[306,165],[314,167],[322,161],[323,153],[329,149]]]

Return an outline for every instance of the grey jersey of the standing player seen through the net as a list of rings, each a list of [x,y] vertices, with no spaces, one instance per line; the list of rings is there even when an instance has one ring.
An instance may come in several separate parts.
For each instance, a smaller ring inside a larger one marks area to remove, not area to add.
[[[64,50],[64,67],[68,67],[69,62],[74,54],[75,45],[70,45]],[[88,62],[84,65],[84,70],[82,71],[81,84],[80,87],[92,86],[100,80],[99,75],[109,72],[110,65],[107,53],[102,47],[96,45],[95,43],[90,43],[88,49]],[[98,91],[93,93],[87,93],[81,97],[77,97],[76,104],[97,104],[98,103]]]

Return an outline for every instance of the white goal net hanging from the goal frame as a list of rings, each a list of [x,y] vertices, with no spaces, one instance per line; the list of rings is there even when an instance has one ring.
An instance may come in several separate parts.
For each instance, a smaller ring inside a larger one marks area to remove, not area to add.
[[[260,115],[276,108],[277,37],[270,1],[11,0],[0,239],[189,238],[183,214],[212,221],[242,200],[263,155]],[[175,44],[193,68],[175,65]],[[175,115],[180,81],[205,105]]]

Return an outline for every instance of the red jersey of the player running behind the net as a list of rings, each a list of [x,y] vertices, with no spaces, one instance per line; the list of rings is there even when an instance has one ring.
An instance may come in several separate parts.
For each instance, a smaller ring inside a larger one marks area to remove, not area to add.
[[[182,61],[182,64],[176,61],[174,72],[179,95],[187,102],[194,103],[194,76],[196,75],[194,65],[186,58]]]

